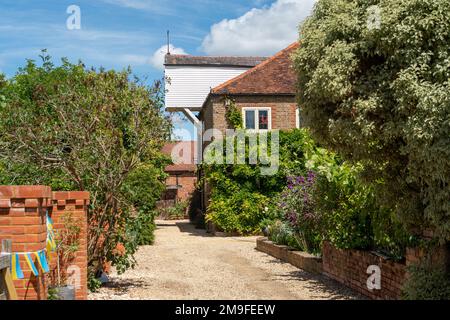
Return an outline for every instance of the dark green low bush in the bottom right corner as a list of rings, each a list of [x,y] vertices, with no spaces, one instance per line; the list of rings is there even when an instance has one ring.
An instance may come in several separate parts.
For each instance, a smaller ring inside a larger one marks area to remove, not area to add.
[[[450,275],[444,267],[424,261],[408,268],[402,287],[405,300],[450,300]]]

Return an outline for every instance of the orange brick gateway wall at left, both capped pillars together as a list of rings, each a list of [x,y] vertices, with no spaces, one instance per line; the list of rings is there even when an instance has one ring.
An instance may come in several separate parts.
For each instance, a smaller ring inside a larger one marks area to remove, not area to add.
[[[46,186],[0,186],[0,241],[12,240],[12,252],[36,252],[46,248],[46,214],[55,219],[56,229],[63,228],[59,217],[72,211],[80,225],[81,246],[76,252],[74,264],[80,268],[81,282],[77,299],[86,298],[87,280],[87,204],[89,193],[52,193]],[[52,254],[52,256],[54,256]],[[34,258],[34,257],[33,257]],[[50,263],[51,272],[55,269],[55,259]],[[24,279],[15,280],[14,285],[21,300],[47,299],[49,277],[44,276],[37,261],[34,261],[39,275],[35,277],[25,259],[20,258]]]

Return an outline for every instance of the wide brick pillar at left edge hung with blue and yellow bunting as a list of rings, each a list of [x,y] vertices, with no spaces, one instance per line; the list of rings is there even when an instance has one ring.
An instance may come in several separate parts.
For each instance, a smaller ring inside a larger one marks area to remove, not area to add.
[[[12,252],[36,252],[46,247],[46,211],[51,206],[51,189],[45,186],[0,186],[0,242],[12,240]],[[33,259],[35,257],[33,256]],[[47,299],[46,281],[34,260],[39,276],[31,273],[23,256],[23,280],[14,285],[21,300]]]

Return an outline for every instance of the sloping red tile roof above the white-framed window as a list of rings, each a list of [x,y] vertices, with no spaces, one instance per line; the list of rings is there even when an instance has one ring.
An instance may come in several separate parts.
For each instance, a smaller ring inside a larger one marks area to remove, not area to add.
[[[212,89],[212,94],[289,94],[295,95],[297,77],[291,55],[299,44],[293,43],[273,57]]]

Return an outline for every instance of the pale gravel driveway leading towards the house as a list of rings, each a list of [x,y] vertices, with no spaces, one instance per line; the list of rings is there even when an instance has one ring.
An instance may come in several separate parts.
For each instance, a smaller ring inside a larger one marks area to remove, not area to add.
[[[350,290],[255,250],[256,237],[212,237],[186,221],[158,221],[156,243],[141,247],[138,266],[92,300],[357,299]]]

